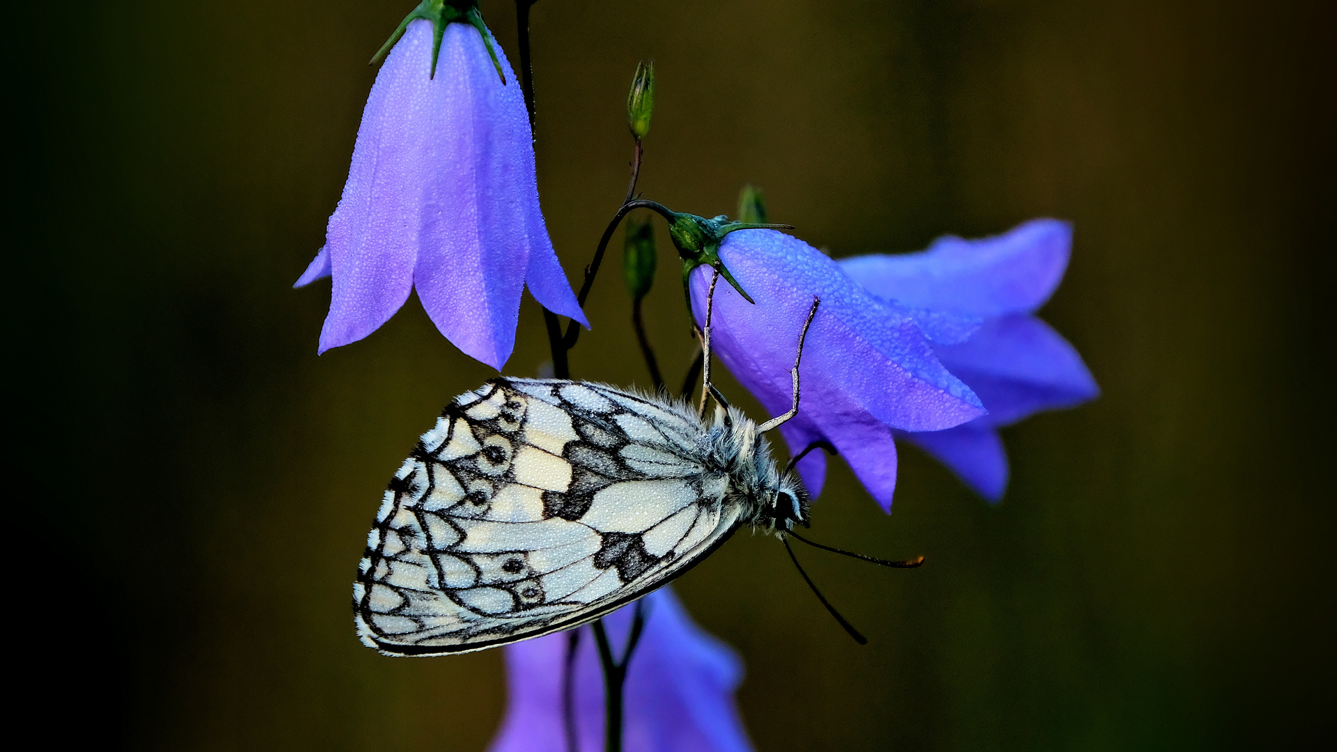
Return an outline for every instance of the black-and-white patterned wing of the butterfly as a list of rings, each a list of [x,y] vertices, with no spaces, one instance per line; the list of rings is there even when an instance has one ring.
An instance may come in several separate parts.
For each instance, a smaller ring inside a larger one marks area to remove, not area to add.
[[[362,642],[480,650],[595,620],[738,527],[690,411],[611,387],[495,379],[457,397],[385,492],[353,586]]]

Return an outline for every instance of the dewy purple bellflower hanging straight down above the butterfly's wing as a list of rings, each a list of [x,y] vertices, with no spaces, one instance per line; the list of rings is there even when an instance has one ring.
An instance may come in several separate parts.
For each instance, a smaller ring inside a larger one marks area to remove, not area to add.
[[[432,76],[432,21],[413,20],[377,74],[325,248],[294,285],[334,278],[318,352],[370,335],[414,288],[451,343],[497,369],[525,285],[588,325],[539,209],[520,87],[483,31],[445,24]]]

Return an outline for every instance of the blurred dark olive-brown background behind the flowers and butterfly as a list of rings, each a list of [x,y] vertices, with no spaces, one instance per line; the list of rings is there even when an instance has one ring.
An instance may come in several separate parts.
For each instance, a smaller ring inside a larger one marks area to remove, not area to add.
[[[12,462],[40,510],[16,516],[40,522],[12,571],[36,573],[16,606],[45,704],[82,719],[57,733],[445,751],[497,725],[500,652],[382,658],[349,614],[389,474],[491,373],[416,300],[317,357],[328,284],[290,289],[346,175],[366,59],[412,1],[13,16]],[[517,60],[513,7],[483,11]],[[814,535],[929,561],[804,557],[869,646],[771,539],[681,581],[746,661],[758,749],[1332,739],[1333,21],[1285,0],[533,8],[539,186],[574,280],[626,189],[640,58],[658,72],[640,187],[674,209],[731,214],[754,182],[836,256],[1075,223],[1042,314],[1104,393],[1004,431],[1001,504],[906,447],[885,516],[833,463]],[[646,384],[610,261],[572,371]],[[693,343],[662,262],[650,332],[678,380]],[[545,359],[525,302],[505,372]]]

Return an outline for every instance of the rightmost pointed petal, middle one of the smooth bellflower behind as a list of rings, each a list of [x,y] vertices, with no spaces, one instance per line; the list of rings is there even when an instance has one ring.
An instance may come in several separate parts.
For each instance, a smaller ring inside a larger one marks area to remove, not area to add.
[[[1082,356],[1034,316],[992,318],[968,341],[935,347],[943,364],[979,393],[988,426],[1072,407],[1100,393]]]

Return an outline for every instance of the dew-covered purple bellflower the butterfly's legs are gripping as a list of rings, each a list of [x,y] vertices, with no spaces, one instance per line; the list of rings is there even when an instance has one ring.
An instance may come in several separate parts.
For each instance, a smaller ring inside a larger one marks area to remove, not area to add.
[[[890,510],[896,488],[893,430],[939,431],[985,412],[929,344],[961,341],[979,318],[916,312],[880,298],[817,249],[774,230],[730,233],[719,257],[757,302],[726,284],[715,288],[714,349],[771,415],[789,409],[798,332],[813,296],[821,298],[804,351],[800,412],[781,432],[792,452],[814,442],[833,444],[882,508]],[[698,324],[713,273],[709,266],[691,273]],[[800,463],[814,495],[825,470],[820,452]]]

